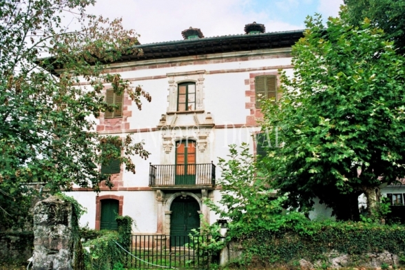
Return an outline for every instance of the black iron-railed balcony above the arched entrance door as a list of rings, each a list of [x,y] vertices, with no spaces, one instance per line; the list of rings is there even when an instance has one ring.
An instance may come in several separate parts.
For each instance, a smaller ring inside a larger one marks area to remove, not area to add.
[[[207,164],[150,165],[149,187],[155,189],[214,189],[215,168]]]

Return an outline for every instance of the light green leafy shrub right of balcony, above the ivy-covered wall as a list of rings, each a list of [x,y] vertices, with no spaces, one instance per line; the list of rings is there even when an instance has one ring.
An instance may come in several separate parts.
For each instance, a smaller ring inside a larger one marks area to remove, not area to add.
[[[267,181],[256,174],[256,161],[249,154],[249,145],[229,147],[229,159],[220,158],[218,163],[221,198],[218,205],[209,199],[205,203],[221,218],[231,221],[230,237],[258,230],[278,231],[298,220],[306,220],[302,214],[285,211],[282,208],[285,198],[273,196],[274,191],[269,189]]]

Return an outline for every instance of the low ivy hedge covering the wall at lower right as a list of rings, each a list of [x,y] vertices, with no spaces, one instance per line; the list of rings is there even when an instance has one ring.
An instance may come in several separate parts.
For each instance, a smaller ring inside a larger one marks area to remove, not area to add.
[[[273,231],[256,231],[240,238],[246,264],[293,264],[300,259],[326,263],[325,253],[346,253],[353,265],[366,261],[366,253],[384,250],[400,254],[405,251],[405,227],[363,222],[312,222],[300,220],[293,226]]]

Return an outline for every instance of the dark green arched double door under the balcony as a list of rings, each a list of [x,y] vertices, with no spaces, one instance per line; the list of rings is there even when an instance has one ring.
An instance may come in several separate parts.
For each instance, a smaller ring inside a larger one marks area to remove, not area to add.
[[[170,207],[170,243],[172,246],[183,246],[189,242],[188,235],[192,229],[200,227],[200,205],[194,198],[177,197]]]

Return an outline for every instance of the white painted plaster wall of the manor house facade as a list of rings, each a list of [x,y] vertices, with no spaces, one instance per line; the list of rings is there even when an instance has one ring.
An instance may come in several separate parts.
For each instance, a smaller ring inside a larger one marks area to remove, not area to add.
[[[262,50],[258,54],[269,54],[276,50]],[[280,49],[280,52],[288,50]],[[254,52],[246,52],[246,54],[253,54]],[[240,54],[240,53],[239,53]],[[225,54],[224,54],[225,55]],[[227,54],[229,55],[229,54]],[[220,54],[216,55],[218,59]],[[170,61],[189,60],[190,57],[170,59]],[[162,61],[162,60],[160,60]],[[153,63],[149,61],[148,63]],[[143,65],[147,61],[138,63],[125,63],[117,65]],[[145,70],[134,70],[129,72],[121,72],[123,79],[136,79],[141,77],[162,76],[167,73],[173,72],[195,72],[197,70],[205,70],[206,74],[203,75],[203,91],[204,91],[204,107],[205,113],[199,114],[199,121],[204,121],[207,112],[211,112],[214,118],[215,125],[229,125],[227,129],[213,128],[208,137],[208,145],[205,150],[207,159],[213,160],[214,164],[218,164],[218,157],[227,159],[229,154],[229,144],[236,143],[240,145],[242,142],[250,144],[251,153],[253,153],[253,138],[251,134],[258,131],[259,128],[246,128],[246,127],[233,127],[233,125],[242,125],[246,123],[246,116],[250,114],[249,110],[245,108],[247,98],[245,91],[249,90],[249,85],[245,85],[245,80],[249,79],[250,73],[259,72],[276,72],[274,69],[258,70],[252,72],[228,72],[219,74],[210,74],[209,72],[215,70],[238,70],[242,68],[256,68],[271,67],[276,65],[290,65],[291,58],[272,58],[272,59],[257,59],[251,61],[240,62],[227,62],[227,63],[210,63],[195,65],[182,65],[178,67],[163,67]],[[114,65],[112,65],[114,66]],[[288,74],[293,74],[292,70],[287,70]],[[141,85],[143,89],[152,96],[152,103],[143,102],[143,109],[139,111],[134,105],[132,106],[132,116],[128,118],[130,123],[129,129],[145,129],[156,127],[162,114],[166,114],[168,107],[169,95],[169,78],[164,79],[149,79],[142,81],[134,81],[133,85]],[[172,116],[170,116],[172,117]],[[192,115],[182,115],[179,118],[179,123],[189,125],[193,121]],[[123,132],[125,135],[125,132]],[[118,134],[118,135],[120,135]],[[149,163],[154,165],[162,164],[162,160],[167,155],[163,150],[163,139],[160,131],[154,132],[141,132],[133,135],[135,141],[145,141],[145,149],[151,153],[147,160],[143,160],[138,156],[133,157],[136,164],[136,174],[124,172],[123,180],[124,187],[148,187],[149,185]],[[188,135],[187,135],[188,136]],[[174,164],[175,147],[168,155]],[[197,155],[202,154],[197,152]],[[170,158],[168,159],[170,161]],[[217,178],[220,177],[217,169]],[[157,230],[157,201],[155,199],[154,191],[101,191],[100,196],[106,194],[114,194],[116,196],[124,196],[123,199],[123,215],[128,215],[136,221],[136,228],[134,232],[140,233],[155,233]],[[96,193],[92,191],[72,191],[68,193],[73,196],[81,205],[87,207],[87,214],[83,215],[80,220],[80,225],[85,226],[87,223],[90,228],[95,227],[96,218]],[[213,200],[218,202],[220,200],[220,191],[213,192]],[[317,207],[319,211],[327,215],[329,210],[322,209],[321,206]],[[209,214],[210,222],[215,222],[219,216],[213,212]]]

